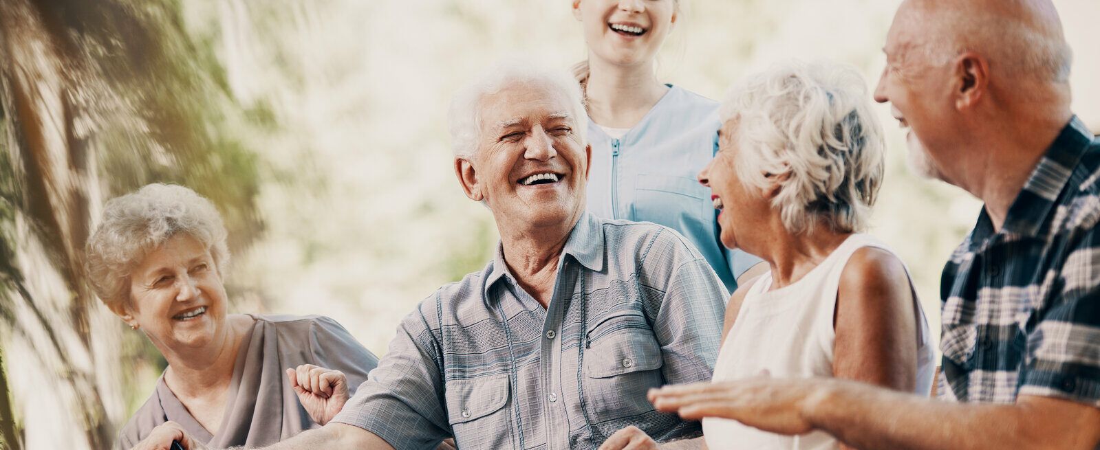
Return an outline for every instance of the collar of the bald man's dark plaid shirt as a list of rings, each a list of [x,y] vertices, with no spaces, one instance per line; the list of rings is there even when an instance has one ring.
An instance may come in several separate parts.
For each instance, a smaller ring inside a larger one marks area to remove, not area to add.
[[[1066,189],[1074,168],[1091,143],[1092,133],[1075,115],[1047,148],[1027,178],[1027,182],[1024,183],[1024,188],[1012,202],[1004,217],[1002,233],[1023,236],[1038,234],[1058,200],[1058,194]],[[985,209],[979,217],[979,224],[982,218],[986,218]],[[987,233],[991,229],[990,226]]]

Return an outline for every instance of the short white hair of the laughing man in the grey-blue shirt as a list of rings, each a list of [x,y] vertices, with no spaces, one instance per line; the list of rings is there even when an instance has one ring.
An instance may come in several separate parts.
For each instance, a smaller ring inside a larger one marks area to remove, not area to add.
[[[576,79],[562,69],[551,69],[519,57],[509,57],[499,60],[454,93],[448,119],[451,149],[455,158],[472,158],[477,150],[482,99],[516,83],[550,86],[564,93],[576,120],[576,130],[573,132],[581,137],[582,143],[587,143],[588,113],[584,109],[584,95]]]

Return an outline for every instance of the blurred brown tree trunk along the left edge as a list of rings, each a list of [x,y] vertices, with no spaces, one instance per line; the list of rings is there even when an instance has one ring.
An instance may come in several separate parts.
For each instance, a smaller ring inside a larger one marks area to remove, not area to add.
[[[110,346],[96,341],[111,340],[118,329],[94,329],[97,312],[89,308],[94,296],[81,270],[89,199],[98,192],[89,168],[94,159],[75,128],[80,112],[74,99],[80,87],[74,80],[81,78],[86,65],[67,44],[61,19],[40,7],[26,0],[0,0],[4,12],[0,15],[0,97],[8,169],[18,185],[9,205],[13,220],[3,224],[14,227],[4,236],[13,239],[11,259],[3,267],[4,317],[12,342],[33,350],[19,355],[36,357],[9,360],[9,367],[33,367],[32,373],[51,378],[38,380],[37,386],[13,385],[15,405],[24,405],[21,409],[37,410],[37,403],[51,395],[43,391],[57,391],[56,401],[70,415],[56,423],[67,428],[67,436],[50,436],[58,429],[42,430],[28,436],[25,443],[33,439],[35,447],[76,443],[106,449],[112,443],[114,427],[100,386],[110,386],[111,381],[101,380],[96,368],[98,359],[117,360],[117,349],[103,355],[102,349]],[[29,280],[25,275],[30,274],[33,279]]]

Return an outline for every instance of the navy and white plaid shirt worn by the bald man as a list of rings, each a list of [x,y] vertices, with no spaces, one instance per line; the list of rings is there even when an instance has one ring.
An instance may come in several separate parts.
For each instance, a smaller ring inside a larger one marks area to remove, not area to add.
[[[942,280],[941,396],[1100,407],[1100,142],[1076,116],[994,232],[985,211]]]

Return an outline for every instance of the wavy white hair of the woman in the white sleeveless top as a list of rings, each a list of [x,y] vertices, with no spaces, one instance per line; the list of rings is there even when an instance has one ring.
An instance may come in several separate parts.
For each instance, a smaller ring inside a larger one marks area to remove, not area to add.
[[[883,137],[867,83],[838,64],[788,63],[735,85],[719,110],[736,121],[737,175],[766,187],[787,175],[772,200],[791,233],[824,222],[842,233],[867,227],[882,181]]]

